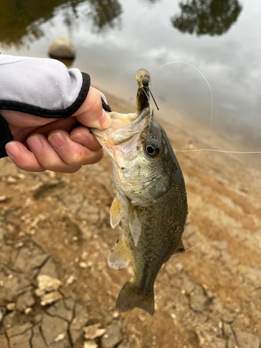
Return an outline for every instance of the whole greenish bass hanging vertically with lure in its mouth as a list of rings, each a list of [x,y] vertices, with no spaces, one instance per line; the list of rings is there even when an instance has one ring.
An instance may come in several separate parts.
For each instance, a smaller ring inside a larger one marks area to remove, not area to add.
[[[138,111],[111,112],[109,128],[91,131],[111,157],[116,197],[110,222],[112,228],[121,222],[123,230],[108,264],[121,270],[133,262],[132,278],[120,290],[116,310],[141,308],[153,315],[157,274],[171,255],[184,252],[182,233],[188,210],[180,165],[151,112],[147,73],[143,69],[136,74]]]

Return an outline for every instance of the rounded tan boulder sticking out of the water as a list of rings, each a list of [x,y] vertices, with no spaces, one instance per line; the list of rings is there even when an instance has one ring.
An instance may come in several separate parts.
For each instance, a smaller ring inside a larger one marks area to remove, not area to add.
[[[74,58],[75,50],[71,40],[63,36],[56,38],[49,45],[49,55],[56,58]]]

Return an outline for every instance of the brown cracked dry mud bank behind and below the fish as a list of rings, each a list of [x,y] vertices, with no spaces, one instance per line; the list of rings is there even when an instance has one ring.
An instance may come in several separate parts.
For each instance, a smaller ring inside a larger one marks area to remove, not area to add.
[[[200,146],[161,123],[174,148]],[[1,348],[261,347],[261,175],[223,154],[177,157],[189,198],[184,244],[208,237],[164,264],[153,317],[115,311],[132,266],[106,263],[122,234],[109,226],[109,158],[72,175],[0,161]],[[42,293],[41,279],[61,283]],[[45,295],[52,301],[42,303]]]

